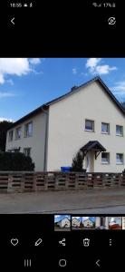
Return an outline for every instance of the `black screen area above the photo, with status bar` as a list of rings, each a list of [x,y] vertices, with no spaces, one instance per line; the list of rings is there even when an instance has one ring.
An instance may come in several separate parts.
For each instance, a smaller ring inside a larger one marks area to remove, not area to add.
[[[125,53],[120,1],[110,1],[116,2],[116,8],[91,5],[106,1],[35,1],[33,8],[11,8],[10,2],[0,9],[1,54],[5,56],[116,57]],[[111,16],[116,18],[114,25],[108,24]]]

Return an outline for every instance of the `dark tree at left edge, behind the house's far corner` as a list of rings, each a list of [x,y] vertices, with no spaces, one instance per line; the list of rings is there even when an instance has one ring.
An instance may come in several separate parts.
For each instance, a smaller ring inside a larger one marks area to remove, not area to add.
[[[12,121],[0,121],[0,151],[5,151],[6,132],[12,124]]]

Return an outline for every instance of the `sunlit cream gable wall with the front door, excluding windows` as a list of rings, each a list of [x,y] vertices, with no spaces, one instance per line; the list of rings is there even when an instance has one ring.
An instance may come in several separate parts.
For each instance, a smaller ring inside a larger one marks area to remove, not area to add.
[[[85,119],[93,120],[95,131],[84,131]],[[101,134],[101,122],[110,122],[110,135]],[[72,93],[50,106],[47,170],[61,170],[71,166],[76,152],[88,141],[100,141],[111,153],[110,164],[101,164],[101,154],[94,160],[94,171],[120,172],[116,153],[124,153],[125,137],[116,136],[116,124],[124,126],[125,118],[97,82]]]

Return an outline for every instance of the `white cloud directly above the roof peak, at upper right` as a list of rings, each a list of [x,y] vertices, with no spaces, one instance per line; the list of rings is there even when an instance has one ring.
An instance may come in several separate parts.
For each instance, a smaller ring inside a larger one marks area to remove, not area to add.
[[[90,58],[87,60],[85,66],[89,69],[89,72],[92,74],[107,74],[113,70],[117,70],[116,66],[110,66],[108,64],[98,65],[101,63],[101,58]]]

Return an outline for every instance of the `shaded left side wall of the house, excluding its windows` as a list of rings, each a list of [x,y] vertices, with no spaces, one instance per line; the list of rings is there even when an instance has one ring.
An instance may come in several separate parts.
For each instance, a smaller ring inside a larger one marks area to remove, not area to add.
[[[24,124],[33,121],[33,136],[24,138]],[[22,136],[20,140],[15,140],[15,129],[14,130],[14,141],[8,141],[8,133],[6,137],[6,148],[5,150],[11,150],[13,148],[21,147],[21,152],[24,148],[31,148],[31,157],[35,164],[35,170],[43,170],[44,161],[44,147],[45,147],[45,123],[46,114],[41,112],[35,115],[32,119],[22,122],[18,126],[22,126]]]

